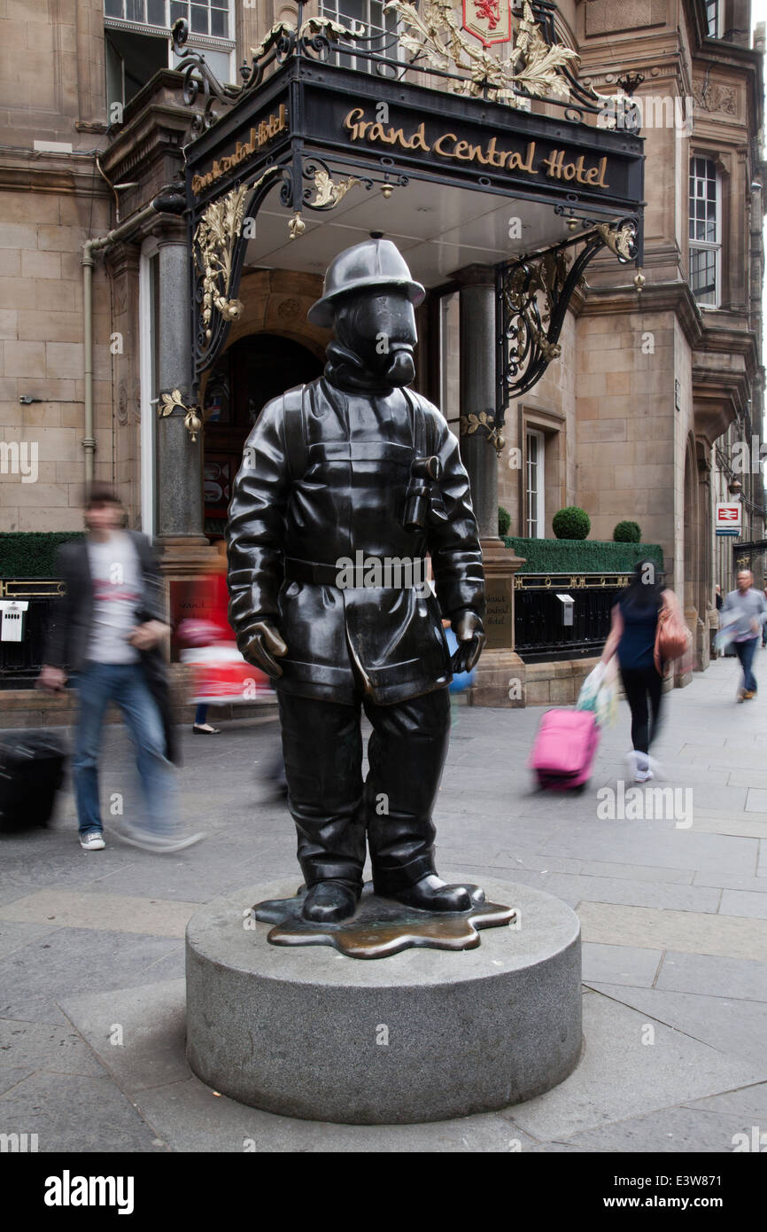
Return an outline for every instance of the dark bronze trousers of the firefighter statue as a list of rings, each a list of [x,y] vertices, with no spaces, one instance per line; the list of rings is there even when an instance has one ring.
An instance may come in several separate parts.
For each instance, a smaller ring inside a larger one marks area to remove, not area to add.
[[[366,833],[379,893],[435,871],[431,819],[451,731],[447,689],[379,706],[277,690],[288,804],[308,886],[362,885]],[[373,724],[362,781],[362,707]]]

